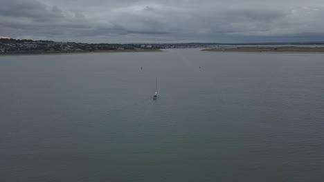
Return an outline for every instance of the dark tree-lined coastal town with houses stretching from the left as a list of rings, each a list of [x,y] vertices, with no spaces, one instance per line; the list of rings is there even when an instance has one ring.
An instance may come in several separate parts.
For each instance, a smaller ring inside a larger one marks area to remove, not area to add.
[[[209,48],[219,43],[75,43],[0,37],[0,54],[156,51],[167,48]]]

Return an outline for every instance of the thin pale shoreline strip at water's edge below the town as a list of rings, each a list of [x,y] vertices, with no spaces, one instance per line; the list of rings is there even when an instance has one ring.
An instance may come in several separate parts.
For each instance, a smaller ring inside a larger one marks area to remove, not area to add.
[[[114,52],[163,52],[158,49],[141,49],[141,50],[95,50],[95,51],[57,51],[57,52],[0,52],[0,56],[17,56],[17,55],[53,55],[53,54],[93,54],[93,53],[114,53]]]

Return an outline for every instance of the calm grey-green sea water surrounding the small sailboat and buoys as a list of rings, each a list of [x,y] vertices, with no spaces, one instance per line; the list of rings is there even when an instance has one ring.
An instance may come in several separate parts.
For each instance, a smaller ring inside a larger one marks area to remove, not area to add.
[[[323,170],[323,54],[0,57],[0,181],[323,181]]]

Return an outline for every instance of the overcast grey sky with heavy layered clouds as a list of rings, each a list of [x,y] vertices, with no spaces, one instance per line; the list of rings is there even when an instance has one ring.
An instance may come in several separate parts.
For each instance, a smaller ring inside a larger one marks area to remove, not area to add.
[[[324,41],[323,0],[0,0],[0,37],[54,41]]]

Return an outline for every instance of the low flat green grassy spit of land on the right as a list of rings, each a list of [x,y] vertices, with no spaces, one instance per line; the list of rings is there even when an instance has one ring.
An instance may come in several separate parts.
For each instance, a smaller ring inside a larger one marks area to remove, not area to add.
[[[201,51],[208,52],[278,52],[278,53],[324,53],[323,47],[297,47],[297,46],[281,46],[281,47],[235,47],[235,48],[210,48]]]

